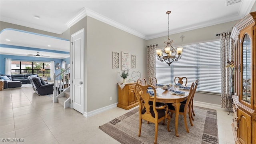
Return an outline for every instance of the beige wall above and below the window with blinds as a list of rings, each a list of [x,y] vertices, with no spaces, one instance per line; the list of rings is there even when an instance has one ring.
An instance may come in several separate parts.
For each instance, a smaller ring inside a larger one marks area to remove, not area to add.
[[[173,40],[174,43],[172,46],[182,46],[187,44],[194,44],[200,42],[208,42],[211,40],[219,40],[219,37],[216,34],[220,34],[221,32],[231,32],[232,27],[236,24],[238,20],[232,22],[226,22],[223,24],[217,24],[214,26],[208,26],[205,28],[199,28],[196,30],[190,30],[187,32],[181,32],[178,34],[170,35],[170,40]],[[184,36],[183,42],[180,36]],[[166,45],[164,41],[168,39],[168,36],[154,38],[147,41],[147,44],[158,44],[157,49],[164,48]],[[185,57],[182,57],[185,58]],[[200,80],[199,80],[200,83]],[[219,104],[220,105],[220,95],[216,94],[206,94],[206,93],[196,93],[194,96],[194,100],[200,102],[207,102],[211,104]]]

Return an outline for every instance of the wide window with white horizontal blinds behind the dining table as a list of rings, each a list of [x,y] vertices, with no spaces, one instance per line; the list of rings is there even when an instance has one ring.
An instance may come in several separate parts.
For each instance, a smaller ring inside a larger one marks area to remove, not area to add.
[[[197,91],[220,93],[220,41],[182,46],[182,58],[170,66],[156,58],[159,84],[174,84],[174,78],[188,78],[187,86],[199,79]]]

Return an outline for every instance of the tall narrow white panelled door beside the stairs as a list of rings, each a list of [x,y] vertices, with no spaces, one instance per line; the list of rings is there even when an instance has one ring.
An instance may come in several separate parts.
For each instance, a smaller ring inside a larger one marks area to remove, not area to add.
[[[71,35],[72,107],[84,114],[84,29]]]

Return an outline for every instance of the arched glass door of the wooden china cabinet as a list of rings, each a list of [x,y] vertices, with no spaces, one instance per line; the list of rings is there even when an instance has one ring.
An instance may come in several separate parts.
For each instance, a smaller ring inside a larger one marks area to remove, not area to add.
[[[248,34],[242,42],[242,100],[251,103],[251,40]]]

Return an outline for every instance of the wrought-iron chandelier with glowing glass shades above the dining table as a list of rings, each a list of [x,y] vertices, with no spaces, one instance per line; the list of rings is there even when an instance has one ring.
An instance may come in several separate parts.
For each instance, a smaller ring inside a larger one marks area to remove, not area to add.
[[[173,40],[170,41],[170,28],[169,28],[169,22],[170,22],[170,16],[169,14],[171,13],[171,11],[167,11],[166,14],[168,14],[168,41],[165,41],[164,44],[166,44],[166,47],[164,48],[164,50],[156,50],[156,54],[157,54],[157,59],[160,60],[161,62],[166,62],[166,64],[168,64],[170,66],[170,64],[172,64],[172,62],[178,61],[178,59],[181,58],[181,52],[182,52],[182,48],[177,48],[177,50],[175,50],[172,47],[172,43]]]

